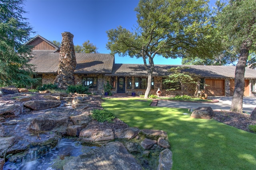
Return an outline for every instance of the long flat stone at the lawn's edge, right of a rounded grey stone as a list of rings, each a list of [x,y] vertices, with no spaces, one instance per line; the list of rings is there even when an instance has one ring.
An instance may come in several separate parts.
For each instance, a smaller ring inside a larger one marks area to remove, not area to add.
[[[167,133],[165,131],[160,130],[152,130],[152,129],[142,129],[139,132],[139,136],[144,139],[152,139],[158,140],[158,138],[162,137],[162,139],[168,139]]]

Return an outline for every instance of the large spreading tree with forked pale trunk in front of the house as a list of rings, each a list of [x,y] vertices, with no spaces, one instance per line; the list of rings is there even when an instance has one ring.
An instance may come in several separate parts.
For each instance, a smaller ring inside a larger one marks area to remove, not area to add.
[[[145,98],[151,88],[154,58],[213,57],[219,42],[204,0],[140,0],[135,8],[137,25],[107,31],[112,54],[140,58],[148,72]]]

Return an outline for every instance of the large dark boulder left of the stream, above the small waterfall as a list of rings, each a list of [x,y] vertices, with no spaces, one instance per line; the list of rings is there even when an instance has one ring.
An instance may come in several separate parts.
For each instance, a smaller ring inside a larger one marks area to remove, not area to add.
[[[31,123],[28,125],[30,130],[35,131],[50,131],[50,130],[57,130],[60,132],[65,131],[66,127],[68,126],[68,117],[61,113],[48,113],[38,115],[34,118]]]

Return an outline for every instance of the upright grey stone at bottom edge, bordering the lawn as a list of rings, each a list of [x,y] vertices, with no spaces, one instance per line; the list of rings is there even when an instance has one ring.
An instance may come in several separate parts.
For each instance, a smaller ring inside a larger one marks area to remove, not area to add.
[[[159,164],[157,170],[172,169],[172,152],[169,149],[164,149],[159,154]]]

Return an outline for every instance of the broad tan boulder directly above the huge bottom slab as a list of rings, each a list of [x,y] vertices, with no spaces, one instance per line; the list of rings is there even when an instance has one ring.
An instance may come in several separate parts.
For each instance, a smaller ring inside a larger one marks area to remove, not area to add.
[[[104,144],[114,140],[112,129],[98,131],[95,129],[82,130],[79,134],[80,141],[83,143]]]

